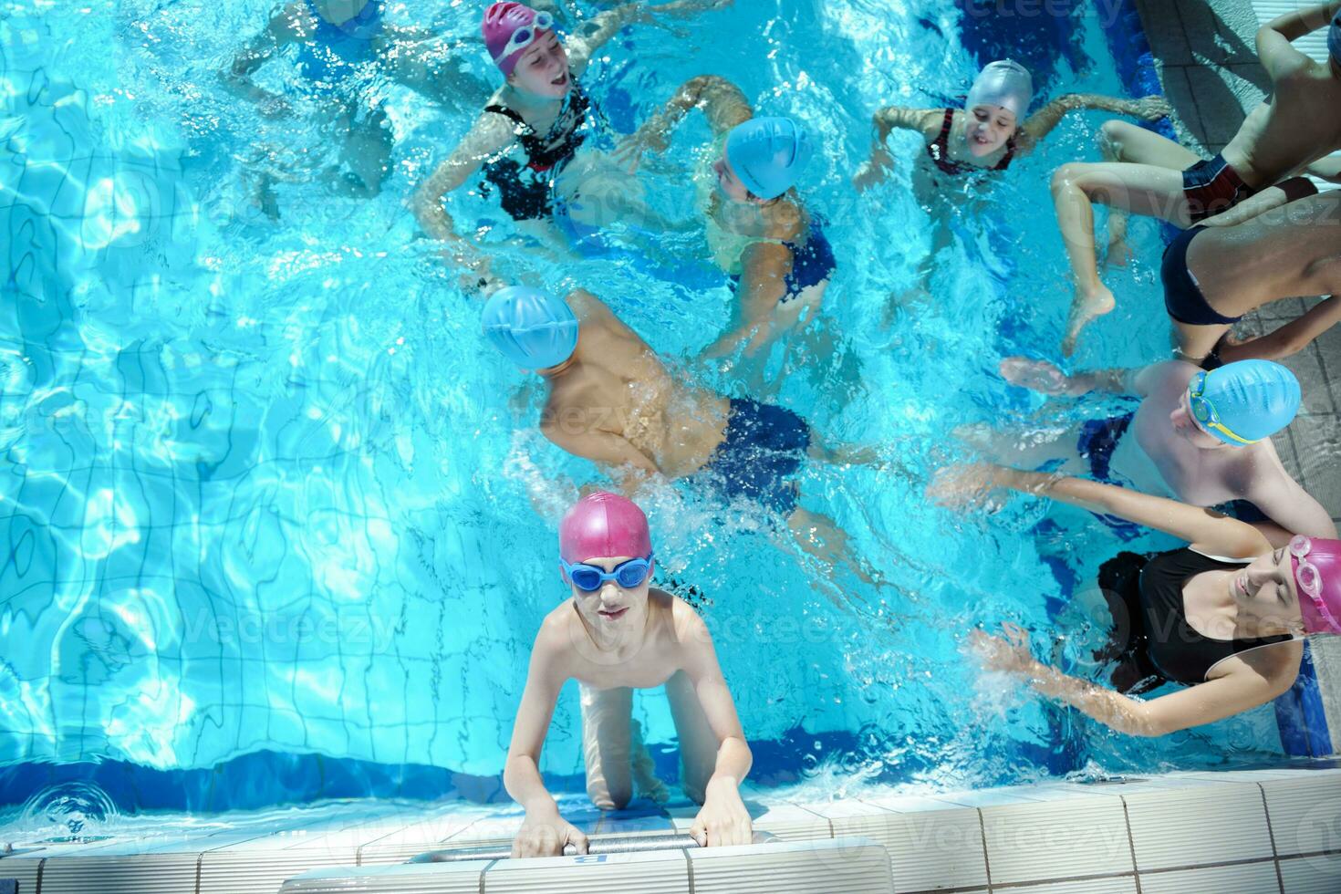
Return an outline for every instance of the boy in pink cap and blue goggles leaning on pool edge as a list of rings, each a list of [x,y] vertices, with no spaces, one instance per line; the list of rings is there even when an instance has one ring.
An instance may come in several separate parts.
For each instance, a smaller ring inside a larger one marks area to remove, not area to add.
[[[539,759],[559,690],[577,680],[587,795],[621,810],[640,792],[664,800],[633,720],[633,690],[665,686],[685,795],[701,804],[691,835],[705,847],[748,844],[740,781],[752,757],[712,635],[688,603],[653,588],[648,519],[609,492],[579,500],[559,525],[559,574],[571,596],[546,615],[531,650],[503,784],[526,808],[512,856],[555,856],[587,840],[559,815]]]

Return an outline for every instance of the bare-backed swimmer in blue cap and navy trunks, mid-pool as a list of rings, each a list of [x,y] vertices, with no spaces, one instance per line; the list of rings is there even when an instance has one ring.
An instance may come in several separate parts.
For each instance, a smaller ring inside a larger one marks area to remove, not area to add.
[[[675,375],[595,295],[567,299],[508,287],[484,307],[484,334],[523,370],[544,378],[540,432],[634,493],[687,478],[723,503],[748,500],[783,521],[794,543],[874,583],[837,524],[801,505],[807,458],[880,462],[860,448],[829,448],[791,410],[727,398]]]

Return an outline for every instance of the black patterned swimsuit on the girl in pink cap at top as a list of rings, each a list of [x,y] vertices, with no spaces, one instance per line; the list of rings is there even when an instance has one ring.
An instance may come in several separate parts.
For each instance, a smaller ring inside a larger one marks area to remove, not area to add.
[[[484,165],[484,180],[498,186],[503,210],[512,220],[538,220],[552,213],[554,180],[586,139],[590,109],[591,101],[577,79],[543,137],[516,110],[498,103],[484,107],[516,125],[516,139],[526,153],[524,168],[512,158],[495,158]]]

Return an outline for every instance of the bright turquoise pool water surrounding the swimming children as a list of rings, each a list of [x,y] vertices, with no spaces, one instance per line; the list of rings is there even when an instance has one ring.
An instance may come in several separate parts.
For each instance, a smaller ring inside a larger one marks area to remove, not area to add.
[[[971,625],[1010,619],[1074,667],[1102,633],[1075,592],[1118,548],[1160,544],[1027,501],[980,523],[923,497],[932,470],[960,456],[952,432],[1022,424],[1042,406],[995,369],[1010,354],[1055,354],[1069,290],[1047,177],[1097,155],[1102,117],[1067,118],[1007,177],[955,186],[939,210],[908,189],[920,150],[907,137],[890,185],[848,185],[873,109],[956,102],[982,62],[1010,50],[1002,42],[1027,51],[1041,99],[1122,92],[1106,8],[990,34],[964,4],[932,0],[897,13],[869,0],[738,3],[673,36],[628,31],[593,67],[616,129],[713,71],[821,137],[803,193],[839,257],[825,306],[837,347],[774,399],[908,469],[811,468],[802,480],[805,504],[890,582],[880,590],[776,543],[747,511],[683,489],[646,504],[662,574],[705,595],[758,779],[842,771],[968,787],[1279,755],[1270,709],[1132,740],[982,677],[961,653]],[[373,200],[333,197],[302,176],[330,153],[319,133],[261,119],[219,84],[239,35],[268,11],[131,0],[0,17],[0,764],[15,797],[44,779],[39,764],[189,772],[315,755],[363,768],[350,779],[405,764],[493,776],[531,639],[565,596],[554,531],[593,466],[534,430],[540,390],[487,350],[479,304],[404,205],[469,117],[380,86],[392,176]],[[389,15],[451,35],[492,83],[473,4]],[[263,76],[292,78],[284,62]],[[707,135],[691,117],[644,174],[660,210],[687,212],[685,172]],[[259,165],[299,170],[276,188],[278,221],[248,200],[243,172]],[[463,190],[449,208],[459,222],[488,221],[489,241],[510,235],[491,200]],[[935,227],[948,244],[933,247]],[[1140,260],[1110,275],[1118,310],[1077,367],[1167,353],[1159,231],[1132,232]],[[687,363],[727,320],[730,292],[695,261],[700,229],[661,248],[676,264],[554,268],[504,253],[514,273],[603,296]],[[929,298],[881,322],[928,264]],[[705,377],[739,389],[730,373]],[[1053,407],[1046,422],[1108,409]],[[662,700],[637,710],[653,743],[672,741]],[[543,768],[571,781],[579,761],[566,690]],[[286,795],[284,779],[270,796]]]

